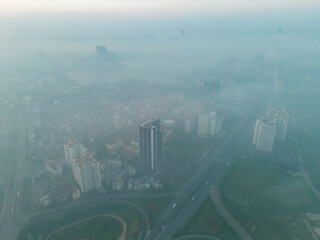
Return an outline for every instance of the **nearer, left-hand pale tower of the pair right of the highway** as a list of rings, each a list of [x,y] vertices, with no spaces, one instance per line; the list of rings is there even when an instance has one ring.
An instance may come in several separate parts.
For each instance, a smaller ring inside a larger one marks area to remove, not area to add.
[[[256,145],[256,148],[261,151],[271,152],[276,136],[276,129],[277,125],[274,121],[258,118],[254,128],[252,144]]]

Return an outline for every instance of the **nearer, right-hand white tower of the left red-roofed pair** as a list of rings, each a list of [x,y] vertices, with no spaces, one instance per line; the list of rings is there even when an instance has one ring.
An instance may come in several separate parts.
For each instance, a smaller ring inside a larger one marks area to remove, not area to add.
[[[91,154],[86,153],[82,158],[72,159],[73,176],[81,192],[101,188],[99,162]]]

